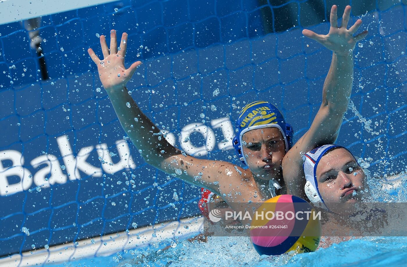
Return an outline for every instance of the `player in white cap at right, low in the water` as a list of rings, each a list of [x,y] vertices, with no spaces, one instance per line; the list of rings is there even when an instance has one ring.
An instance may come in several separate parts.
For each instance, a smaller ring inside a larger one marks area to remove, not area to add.
[[[381,235],[388,225],[389,210],[373,204],[376,201],[370,192],[367,176],[348,149],[326,144],[305,153],[304,173],[304,191],[308,199],[327,211],[322,229],[330,237],[323,239],[323,247],[349,240],[350,236]],[[400,175],[389,179],[396,178],[400,179]],[[365,204],[361,205],[363,202]]]

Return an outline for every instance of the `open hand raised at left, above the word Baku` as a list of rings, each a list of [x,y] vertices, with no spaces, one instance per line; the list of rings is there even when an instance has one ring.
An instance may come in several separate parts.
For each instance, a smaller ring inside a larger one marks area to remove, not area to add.
[[[128,69],[125,68],[125,55],[127,48],[127,33],[123,33],[119,49],[117,48],[116,31],[110,31],[110,53],[107,48],[106,38],[100,36],[103,60],[100,60],[92,48],[88,53],[93,62],[98,66],[99,78],[106,90],[123,89],[133,76],[141,61],[134,62]]]

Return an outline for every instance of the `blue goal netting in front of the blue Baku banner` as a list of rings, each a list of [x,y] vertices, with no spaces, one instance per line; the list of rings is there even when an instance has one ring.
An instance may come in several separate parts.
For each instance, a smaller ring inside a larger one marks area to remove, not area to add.
[[[0,254],[199,213],[199,189],[145,164],[126,140],[107,94],[97,89],[101,84],[86,52],[92,47],[101,55],[96,35],[111,28],[129,33],[127,63],[144,64],[127,87],[147,116],[174,134],[177,146],[184,145],[179,135],[186,125],[202,123],[217,142],[201,157],[239,164],[215,120],[225,118],[228,125],[245,103],[276,104],[296,140],[309,128],[331,53],[304,39],[301,29],[326,20],[331,4],[144,0],[44,16],[40,35],[49,81],[40,79],[27,31],[19,23],[0,26]],[[377,11],[363,17],[370,33],[354,51],[352,101],[360,117],[346,114],[338,144],[372,158],[374,171],[382,174],[406,166],[407,16],[404,4],[380,10],[378,2],[353,12],[372,9]],[[326,33],[328,24],[310,28]],[[205,144],[201,135],[191,142]],[[63,153],[63,146],[71,152]],[[121,157],[128,152],[131,159]],[[72,171],[75,160],[78,173]],[[24,175],[20,188],[5,187]]]

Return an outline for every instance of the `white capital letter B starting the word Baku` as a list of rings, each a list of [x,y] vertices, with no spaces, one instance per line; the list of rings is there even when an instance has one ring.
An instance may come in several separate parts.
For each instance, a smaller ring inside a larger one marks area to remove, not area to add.
[[[3,160],[11,160],[12,166],[4,168]],[[0,195],[10,195],[30,188],[33,180],[30,178],[30,171],[25,169],[24,157],[16,150],[4,150],[0,153]],[[20,181],[9,184],[7,177],[18,176]]]

